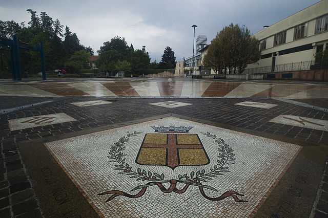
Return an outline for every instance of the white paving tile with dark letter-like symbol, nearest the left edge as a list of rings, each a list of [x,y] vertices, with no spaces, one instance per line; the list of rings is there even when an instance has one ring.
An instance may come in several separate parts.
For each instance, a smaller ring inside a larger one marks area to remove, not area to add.
[[[8,120],[11,131],[24,128],[32,128],[36,126],[46,126],[56,123],[65,123],[76,121],[73,117],[65,113],[47,114],[34,117],[24,117],[13,120]]]

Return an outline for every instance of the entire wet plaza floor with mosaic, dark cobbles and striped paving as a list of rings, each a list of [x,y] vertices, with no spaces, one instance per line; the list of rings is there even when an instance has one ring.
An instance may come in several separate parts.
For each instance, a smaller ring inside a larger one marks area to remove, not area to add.
[[[0,81],[0,217],[326,217],[328,85]]]

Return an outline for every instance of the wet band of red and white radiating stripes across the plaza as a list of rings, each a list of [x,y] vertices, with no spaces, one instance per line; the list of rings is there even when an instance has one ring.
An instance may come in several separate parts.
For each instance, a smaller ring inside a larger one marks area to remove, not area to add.
[[[279,84],[210,80],[114,80],[1,84],[0,95],[14,96],[143,96],[143,97],[279,97],[328,98],[326,84]]]

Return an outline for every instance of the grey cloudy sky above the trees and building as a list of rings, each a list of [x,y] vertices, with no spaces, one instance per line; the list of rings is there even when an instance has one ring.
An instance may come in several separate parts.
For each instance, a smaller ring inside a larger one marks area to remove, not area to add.
[[[160,60],[166,46],[177,59],[192,55],[196,36],[212,40],[230,23],[245,25],[252,33],[272,25],[318,0],[0,0],[0,20],[26,21],[26,9],[46,12],[70,27],[85,46],[97,51],[115,35],[125,37],[134,48],[146,45],[152,60]]]

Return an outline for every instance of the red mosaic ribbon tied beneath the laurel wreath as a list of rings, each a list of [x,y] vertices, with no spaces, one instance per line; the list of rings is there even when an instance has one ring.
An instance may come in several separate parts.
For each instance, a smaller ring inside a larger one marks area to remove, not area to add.
[[[188,187],[190,185],[192,185],[193,183],[196,183],[194,181],[192,182],[189,182],[185,185],[185,187],[183,187],[182,189],[177,189],[176,188],[176,184],[177,184],[177,180],[170,180],[170,187],[167,189],[165,188],[161,183],[159,182],[149,182],[146,184],[146,186],[151,186],[151,185],[157,185],[158,188],[164,192],[164,193],[171,193],[172,191],[175,192],[175,193],[178,193],[178,194],[182,194],[182,193],[185,193],[188,189]],[[199,191],[200,193],[203,195],[204,198],[208,199],[208,200],[211,200],[211,201],[221,201],[225,198],[228,198],[228,197],[232,197],[235,202],[247,202],[247,201],[244,201],[244,200],[240,200],[238,199],[237,195],[239,196],[244,196],[243,194],[239,194],[238,192],[236,191],[226,191],[224,192],[223,194],[221,194],[220,197],[217,197],[217,198],[211,198],[211,197],[208,197],[205,192],[204,192],[204,189],[203,187],[201,186],[198,186],[199,188]],[[107,199],[106,202],[109,202],[111,201],[112,199],[114,199],[115,197],[117,196],[125,196],[125,197],[128,197],[128,198],[132,198],[132,199],[135,199],[135,198],[139,198],[141,197],[142,195],[144,195],[146,193],[146,190],[147,190],[147,187],[144,187],[144,188],[141,188],[141,190],[137,193],[137,194],[129,194],[127,192],[124,192],[124,191],[119,191],[119,190],[111,190],[111,191],[105,191],[103,193],[99,193],[98,195],[105,195],[105,194],[113,194],[111,197],[109,197]]]

